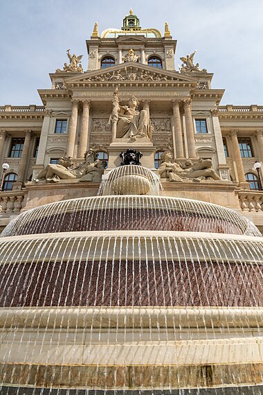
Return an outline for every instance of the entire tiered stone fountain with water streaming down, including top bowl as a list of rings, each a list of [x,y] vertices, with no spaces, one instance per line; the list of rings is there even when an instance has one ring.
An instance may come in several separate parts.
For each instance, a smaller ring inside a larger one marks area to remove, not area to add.
[[[0,239],[1,394],[262,394],[263,240],[143,166]]]

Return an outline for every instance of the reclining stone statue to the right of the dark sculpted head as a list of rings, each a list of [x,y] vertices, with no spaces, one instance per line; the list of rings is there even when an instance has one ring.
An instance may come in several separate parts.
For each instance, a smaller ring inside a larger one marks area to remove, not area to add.
[[[200,182],[208,177],[221,181],[219,175],[212,168],[211,159],[200,158],[197,163],[187,160],[184,164],[178,164],[172,160],[170,152],[163,152],[161,155],[161,166],[158,168],[158,173],[161,178],[168,178],[169,181],[192,179],[192,181]]]

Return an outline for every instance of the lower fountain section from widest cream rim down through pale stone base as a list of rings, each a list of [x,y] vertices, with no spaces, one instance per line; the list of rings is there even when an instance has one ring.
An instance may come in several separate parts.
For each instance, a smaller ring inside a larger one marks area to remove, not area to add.
[[[0,251],[6,388],[262,383],[262,238],[67,232]]]

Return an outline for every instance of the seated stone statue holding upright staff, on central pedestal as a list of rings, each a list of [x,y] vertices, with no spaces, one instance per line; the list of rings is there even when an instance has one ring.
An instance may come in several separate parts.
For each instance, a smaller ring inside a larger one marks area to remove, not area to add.
[[[118,89],[114,91],[113,110],[110,121],[113,124],[114,138],[133,139],[146,137],[152,140],[152,128],[147,109],[138,111],[138,99],[129,98],[128,105],[120,105]]]

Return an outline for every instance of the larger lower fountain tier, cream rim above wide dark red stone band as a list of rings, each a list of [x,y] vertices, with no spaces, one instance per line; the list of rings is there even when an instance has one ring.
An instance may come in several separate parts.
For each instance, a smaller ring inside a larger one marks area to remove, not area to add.
[[[261,307],[262,257],[262,238],[250,236],[93,231],[6,237],[0,306]]]

